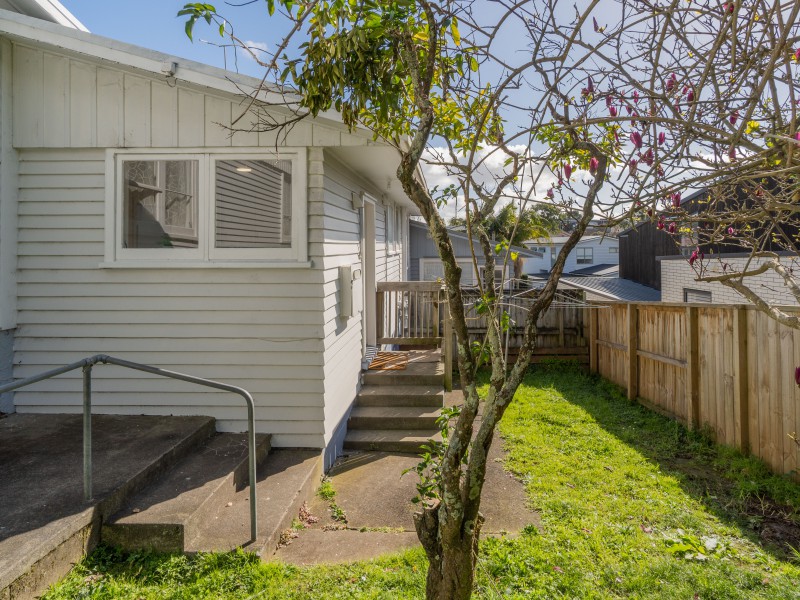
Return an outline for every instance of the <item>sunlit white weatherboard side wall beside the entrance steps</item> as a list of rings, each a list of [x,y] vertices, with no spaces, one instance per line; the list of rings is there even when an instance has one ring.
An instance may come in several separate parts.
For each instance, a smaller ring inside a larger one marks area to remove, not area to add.
[[[312,153],[320,151],[312,150]],[[323,258],[319,262],[324,277],[324,404],[325,404],[325,463],[326,468],[341,450],[346,432],[347,418],[360,385],[362,359],[361,311],[352,317],[341,315],[339,301],[341,289],[339,267],[352,266],[361,269],[361,228],[363,212],[353,207],[352,198],[367,192],[376,198],[380,195],[371,189],[346,167],[333,160],[324,164],[324,204],[319,208],[324,214],[312,217],[319,224],[314,239],[319,237],[319,250],[315,253]],[[399,281],[402,279],[403,243],[400,236],[396,250],[387,247],[387,206],[375,206],[375,254],[376,280]],[[368,240],[368,243],[373,241]],[[316,261],[315,261],[316,262]],[[353,286],[354,299],[360,296],[360,281]],[[356,305],[359,301],[356,300]],[[362,307],[363,310],[363,307]]]

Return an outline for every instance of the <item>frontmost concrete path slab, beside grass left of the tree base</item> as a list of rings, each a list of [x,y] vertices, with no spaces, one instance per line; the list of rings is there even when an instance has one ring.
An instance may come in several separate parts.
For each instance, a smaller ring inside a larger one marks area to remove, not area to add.
[[[314,565],[369,560],[381,554],[400,552],[419,546],[416,533],[375,531],[303,531],[281,547],[274,560],[292,565]]]

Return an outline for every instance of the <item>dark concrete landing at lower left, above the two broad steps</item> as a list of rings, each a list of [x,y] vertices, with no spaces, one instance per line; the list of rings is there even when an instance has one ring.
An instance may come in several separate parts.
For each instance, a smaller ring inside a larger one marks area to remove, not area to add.
[[[0,420],[0,598],[32,598],[94,547],[101,519],[209,438],[209,417],[92,417],[83,499],[81,415]]]

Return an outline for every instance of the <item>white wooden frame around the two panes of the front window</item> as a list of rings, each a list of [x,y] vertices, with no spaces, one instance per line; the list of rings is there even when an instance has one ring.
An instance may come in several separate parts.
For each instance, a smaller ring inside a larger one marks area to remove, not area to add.
[[[123,248],[124,182],[128,160],[197,160],[197,248]],[[292,162],[291,246],[288,248],[216,248],[216,160],[290,160]],[[307,157],[305,148],[243,151],[240,148],[189,148],[175,151],[110,149],[106,154],[105,264],[103,266],[213,266],[215,263],[302,263],[308,261]]]

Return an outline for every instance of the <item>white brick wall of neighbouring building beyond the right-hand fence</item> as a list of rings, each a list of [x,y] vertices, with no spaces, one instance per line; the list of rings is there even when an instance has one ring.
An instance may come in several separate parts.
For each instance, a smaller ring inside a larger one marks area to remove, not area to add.
[[[725,258],[726,263],[739,268],[744,264],[745,258]],[[753,266],[756,263],[751,263]],[[717,269],[715,261],[709,261],[709,268]],[[741,304],[747,302],[738,292],[726,288],[720,283],[706,283],[695,281],[696,274],[684,257],[661,259],[661,301],[683,302],[685,288],[711,292],[711,302],[714,304]],[[747,279],[753,290],[768,302],[779,305],[797,304],[797,301],[786,289],[783,280],[777,273],[767,271],[761,275]]]

